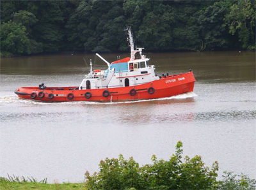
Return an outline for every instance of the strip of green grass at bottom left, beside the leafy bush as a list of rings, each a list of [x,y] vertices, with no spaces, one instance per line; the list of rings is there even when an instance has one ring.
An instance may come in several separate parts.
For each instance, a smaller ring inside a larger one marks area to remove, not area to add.
[[[26,190],[84,190],[83,183],[63,183],[59,184],[55,182],[54,184],[47,184],[47,179],[37,182],[33,177],[25,179],[24,177],[15,177],[8,175],[6,177],[0,177],[0,189],[26,189]]]

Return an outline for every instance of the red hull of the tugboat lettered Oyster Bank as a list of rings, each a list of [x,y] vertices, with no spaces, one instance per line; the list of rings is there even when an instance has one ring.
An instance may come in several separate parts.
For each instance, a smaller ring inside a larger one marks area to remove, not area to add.
[[[116,87],[108,89],[86,89],[72,90],[76,87],[20,87],[15,93],[24,99],[35,99],[39,101],[133,101],[140,99],[166,98],[193,92],[195,77],[193,72],[179,75],[167,76],[147,84],[129,87]],[[62,88],[59,90],[59,88]],[[72,88],[72,89],[70,89]],[[153,88],[153,89],[152,89]],[[136,91],[131,91],[135,89]],[[108,91],[103,96],[104,91]],[[33,93],[34,92],[34,93]],[[44,92],[44,93],[42,93]],[[87,97],[84,94],[87,93]],[[33,94],[32,94],[33,93]],[[40,93],[40,94],[38,94]],[[54,96],[49,96],[53,94]],[[33,96],[32,96],[33,95]],[[42,97],[44,95],[44,97]],[[90,96],[91,95],[91,96]],[[107,97],[106,97],[107,96]],[[41,98],[40,98],[41,97]]]

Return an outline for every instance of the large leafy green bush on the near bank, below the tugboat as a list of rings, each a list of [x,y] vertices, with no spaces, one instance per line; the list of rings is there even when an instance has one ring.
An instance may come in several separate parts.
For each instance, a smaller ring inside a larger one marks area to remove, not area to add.
[[[209,189],[218,184],[216,177],[218,163],[211,170],[204,166],[202,157],[185,157],[182,163],[182,142],[176,145],[176,152],[170,160],[157,160],[152,156],[153,164],[139,166],[132,157],[100,161],[100,172],[86,172],[87,189]]]

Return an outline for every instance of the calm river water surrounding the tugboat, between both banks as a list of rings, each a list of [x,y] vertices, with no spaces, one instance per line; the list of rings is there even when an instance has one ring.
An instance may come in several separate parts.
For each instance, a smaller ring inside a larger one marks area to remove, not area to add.
[[[219,176],[227,170],[256,179],[255,52],[145,55],[158,75],[192,69],[194,92],[124,103],[24,100],[14,94],[18,87],[79,85],[90,59],[106,64],[93,54],[1,59],[0,176],[83,182],[87,170],[99,172],[101,159],[167,160],[180,140],[184,157],[200,155],[210,168],[218,161]],[[102,55],[109,62],[116,56]]]

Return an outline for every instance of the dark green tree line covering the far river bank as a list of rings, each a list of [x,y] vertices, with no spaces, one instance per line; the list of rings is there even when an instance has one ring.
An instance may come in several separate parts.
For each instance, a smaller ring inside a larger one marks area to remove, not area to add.
[[[255,50],[255,1],[0,1],[1,50]]]

